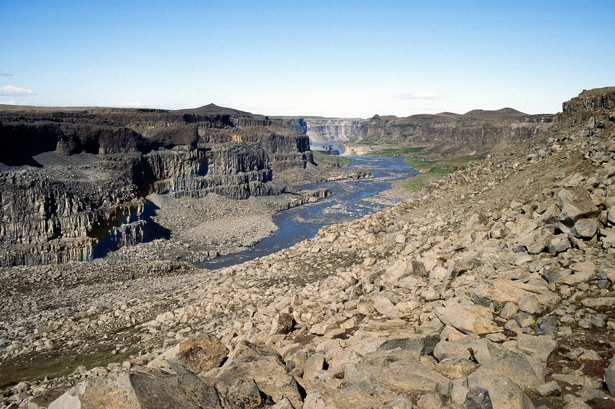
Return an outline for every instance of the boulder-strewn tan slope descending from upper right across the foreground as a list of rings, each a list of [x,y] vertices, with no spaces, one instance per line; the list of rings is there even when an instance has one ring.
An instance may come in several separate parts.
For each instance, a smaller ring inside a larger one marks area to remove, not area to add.
[[[391,210],[18,335],[3,368],[122,358],[17,384],[4,404],[613,407],[615,111],[587,99]]]

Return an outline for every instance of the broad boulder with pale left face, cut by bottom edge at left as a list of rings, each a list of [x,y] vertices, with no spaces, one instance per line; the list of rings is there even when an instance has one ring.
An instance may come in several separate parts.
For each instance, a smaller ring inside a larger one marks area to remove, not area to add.
[[[218,392],[196,375],[119,372],[73,386],[49,409],[203,409],[222,408]]]

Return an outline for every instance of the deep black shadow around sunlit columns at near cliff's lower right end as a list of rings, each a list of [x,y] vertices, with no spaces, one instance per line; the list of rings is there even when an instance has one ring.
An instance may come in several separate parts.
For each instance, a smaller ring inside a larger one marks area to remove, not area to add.
[[[109,252],[122,247],[136,246],[139,243],[164,239],[169,240],[171,231],[153,220],[160,208],[149,200],[142,206],[127,206],[106,220],[100,220],[88,232],[94,239],[93,258],[100,259]]]

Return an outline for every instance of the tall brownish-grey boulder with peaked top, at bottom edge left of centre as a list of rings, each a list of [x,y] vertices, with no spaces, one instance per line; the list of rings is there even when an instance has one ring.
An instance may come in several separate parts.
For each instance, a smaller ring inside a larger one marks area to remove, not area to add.
[[[275,349],[240,341],[216,378],[227,385],[253,379],[261,392],[274,402],[288,398],[294,407],[303,404],[295,378],[291,376]]]

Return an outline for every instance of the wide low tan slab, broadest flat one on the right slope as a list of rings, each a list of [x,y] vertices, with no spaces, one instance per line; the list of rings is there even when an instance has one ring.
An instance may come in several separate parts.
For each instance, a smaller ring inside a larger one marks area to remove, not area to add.
[[[555,308],[561,301],[561,297],[549,291],[546,286],[533,286],[521,281],[512,281],[504,278],[481,284],[474,292],[480,295],[480,297],[500,305],[504,305],[507,302],[513,302],[518,305],[528,295],[534,295],[541,306],[549,309]]]

